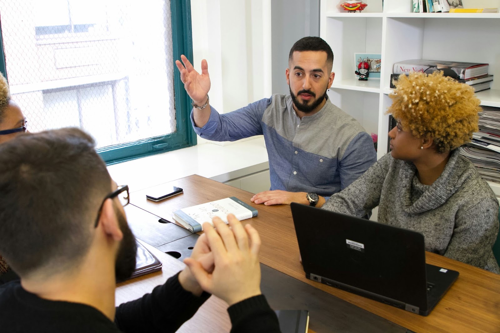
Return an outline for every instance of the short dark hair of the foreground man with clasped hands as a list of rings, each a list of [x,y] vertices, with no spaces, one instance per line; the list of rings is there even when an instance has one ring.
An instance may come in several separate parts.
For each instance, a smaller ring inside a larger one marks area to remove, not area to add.
[[[78,128],[26,133],[0,145],[0,253],[21,277],[78,264],[111,189],[94,140]]]

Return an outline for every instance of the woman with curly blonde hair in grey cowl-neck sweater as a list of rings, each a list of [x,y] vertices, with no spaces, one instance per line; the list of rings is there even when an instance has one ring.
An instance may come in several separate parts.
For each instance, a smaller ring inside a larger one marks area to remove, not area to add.
[[[322,208],[361,217],[378,206],[379,223],[423,233],[427,251],[500,273],[491,250],[498,201],[456,149],[477,130],[473,88],[440,71],[394,84],[390,153]]]

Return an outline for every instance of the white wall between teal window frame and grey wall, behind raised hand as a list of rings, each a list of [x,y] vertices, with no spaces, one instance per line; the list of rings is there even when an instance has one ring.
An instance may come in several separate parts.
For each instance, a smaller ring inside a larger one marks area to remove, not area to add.
[[[207,60],[219,113],[271,95],[271,0],[191,0],[191,21],[193,65]]]

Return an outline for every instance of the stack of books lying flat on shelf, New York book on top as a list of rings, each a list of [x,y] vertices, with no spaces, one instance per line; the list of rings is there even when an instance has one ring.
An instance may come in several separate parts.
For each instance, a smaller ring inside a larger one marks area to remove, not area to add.
[[[394,87],[393,80],[397,80],[400,74],[409,74],[413,71],[430,74],[436,70],[442,71],[444,76],[451,76],[459,82],[470,85],[475,92],[489,89],[493,81],[493,75],[488,74],[487,63],[411,59],[394,63],[390,75],[390,87]]]

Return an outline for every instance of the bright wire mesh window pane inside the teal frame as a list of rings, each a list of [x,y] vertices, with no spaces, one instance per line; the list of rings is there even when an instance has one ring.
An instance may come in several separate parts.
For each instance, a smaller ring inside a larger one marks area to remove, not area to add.
[[[30,131],[97,148],[175,131],[169,0],[0,0],[12,99]]]

